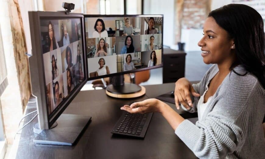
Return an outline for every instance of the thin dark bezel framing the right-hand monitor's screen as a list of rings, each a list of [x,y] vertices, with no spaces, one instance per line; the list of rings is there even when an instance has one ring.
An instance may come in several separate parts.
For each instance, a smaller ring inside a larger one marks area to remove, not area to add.
[[[86,23],[86,20],[85,18],[97,18],[97,17],[155,17],[155,16],[161,16],[162,17],[162,31],[161,31],[161,34],[162,34],[162,39],[161,39],[161,65],[158,65],[158,66],[152,66],[152,67],[145,67],[145,68],[140,68],[140,69],[135,69],[135,70],[129,70],[129,71],[123,71],[123,72],[116,72],[116,73],[111,73],[111,74],[108,74],[108,75],[102,75],[102,76],[97,76],[97,77],[89,77],[87,76],[87,80],[94,80],[94,79],[101,79],[101,78],[106,78],[106,77],[111,77],[111,76],[119,76],[119,75],[124,75],[124,74],[128,74],[128,73],[134,73],[134,72],[141,72],[141,71],[145,71],[145,70],[150,70],[150,69],[157,69],[157,68],[161,68],[163,67],[163,31],[164,31],[164,27],[163,27],[163,24],[164,24],[164,15],[163,14],[156,14],[156,15],[151,15],[151,14],[148,14],[148,15],[100,15],[100,14],[84,14],[84,23]],[[85,28],[85,26],[84,26]],[[86,36],[86,30],[84,32],[84,35]],[[85,40],[86,37],[85,37]],[[85,42],[85,46],[86,46],[86,54],[87,54],[87,42]],[[139,51],[139,52],[143,52],[143,51]],[[120,55],[120,54],[116,54],[116,55]],[[87,59],[87,58],[86,58]],[[88,65],[88,63],[87,63]],[[87,75],[89,75],[89,72],[88,72],[88,69],[87,69]]]

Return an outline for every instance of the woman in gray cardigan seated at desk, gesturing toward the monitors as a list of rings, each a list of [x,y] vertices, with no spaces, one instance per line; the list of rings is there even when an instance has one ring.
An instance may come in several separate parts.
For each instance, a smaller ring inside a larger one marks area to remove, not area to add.
[[[181,102],[197,111],[196,125],[157,99],[121,109],[160,112],[199,158],[265,158],[263,19],[247,5],[225,5],[209,13],[203,32],[203,62],[214,65],[200,83],[181,78],[175,86],[177,109]]]

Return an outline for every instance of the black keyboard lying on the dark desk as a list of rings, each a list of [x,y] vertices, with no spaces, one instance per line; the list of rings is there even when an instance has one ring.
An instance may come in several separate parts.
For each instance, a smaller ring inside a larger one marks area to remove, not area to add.
[[[122,113],[111,133],[144,138],[153,113]]]

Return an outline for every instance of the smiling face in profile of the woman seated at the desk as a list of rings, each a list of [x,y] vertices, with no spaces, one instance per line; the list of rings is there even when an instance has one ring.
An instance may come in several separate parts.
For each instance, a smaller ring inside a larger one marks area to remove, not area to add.
[[[202,50],[203,62],[206,64],[233,61],[231,47],[234,40],[221,28],[213,17],[208,17],[203,25],[203,37],[198,42]]]

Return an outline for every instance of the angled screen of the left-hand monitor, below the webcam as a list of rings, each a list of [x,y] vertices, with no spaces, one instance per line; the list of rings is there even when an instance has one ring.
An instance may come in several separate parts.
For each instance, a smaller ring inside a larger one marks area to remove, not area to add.
[[[86,80],[81,20],[40,19],[48,120]]]

